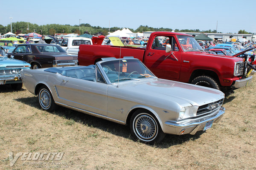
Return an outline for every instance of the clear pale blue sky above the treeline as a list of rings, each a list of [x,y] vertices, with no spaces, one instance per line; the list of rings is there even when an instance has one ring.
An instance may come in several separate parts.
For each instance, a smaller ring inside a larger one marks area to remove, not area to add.
[[[0,24],[89,23],[91,26],[214,30],[256,33],[256,0],[3,0]]]

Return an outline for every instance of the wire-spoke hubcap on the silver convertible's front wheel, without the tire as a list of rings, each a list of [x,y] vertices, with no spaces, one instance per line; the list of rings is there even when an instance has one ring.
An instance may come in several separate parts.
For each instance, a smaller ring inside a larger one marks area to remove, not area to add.
[[[152,139],[157,133],[157,125],[150,116],[142,115],[136,119],[135,129],[138,136],[142,139]]]

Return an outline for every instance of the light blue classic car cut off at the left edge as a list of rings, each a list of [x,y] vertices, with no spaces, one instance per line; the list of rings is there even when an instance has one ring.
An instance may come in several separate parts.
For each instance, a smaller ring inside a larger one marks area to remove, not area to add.
[[[0,85],[10,84],[13,89],[20,90],[22,87],[21,70],[30,69],[31,65],[17,59],[6,56],[3,47],[0,47]]]

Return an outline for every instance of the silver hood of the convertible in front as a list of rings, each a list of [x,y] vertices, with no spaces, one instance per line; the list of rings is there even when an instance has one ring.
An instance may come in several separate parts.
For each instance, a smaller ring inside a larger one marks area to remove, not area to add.
[[[133,83],[130,84],[131,82]],[[201,106],[224,98],[224,93],[219,90],[172,80],[148,79],[131,82],[127,84],[123,82],[123,86],[119,83],[119,87],[126,91],[126,94],[136,92],[136,96],[148,96],[143,100],[151,98],[157,102],[157,100],[170,99],[180,105],[190,103]]]

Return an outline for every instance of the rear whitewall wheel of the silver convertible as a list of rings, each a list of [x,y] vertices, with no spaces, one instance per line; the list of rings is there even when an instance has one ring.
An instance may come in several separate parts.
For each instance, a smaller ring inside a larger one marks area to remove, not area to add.
[[[53,111],[56,108],[52,94],[45,85],[39,89],[38,102],[45,111]]]

